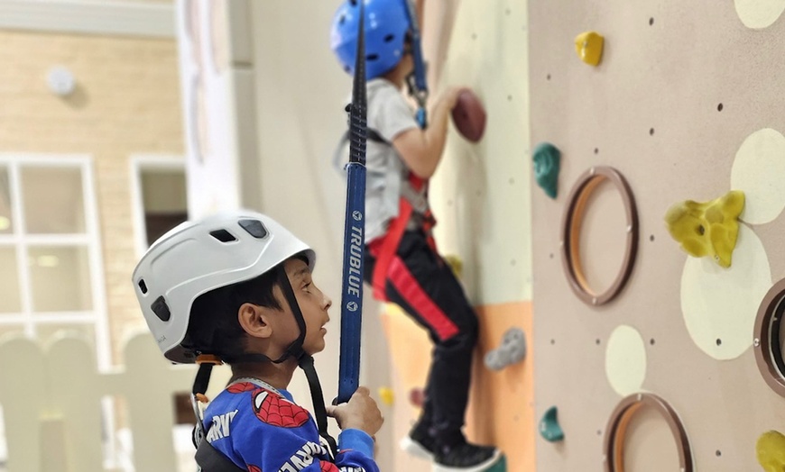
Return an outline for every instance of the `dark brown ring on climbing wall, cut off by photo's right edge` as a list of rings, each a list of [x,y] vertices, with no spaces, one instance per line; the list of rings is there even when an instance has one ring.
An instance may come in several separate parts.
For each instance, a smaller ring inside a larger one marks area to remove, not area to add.
[[[780,347],[780,324],[785,312],[785,279],[780,280],[763,296],[755,317],[753,348],[755,363],[771,390],[785,396],[785,361]]]

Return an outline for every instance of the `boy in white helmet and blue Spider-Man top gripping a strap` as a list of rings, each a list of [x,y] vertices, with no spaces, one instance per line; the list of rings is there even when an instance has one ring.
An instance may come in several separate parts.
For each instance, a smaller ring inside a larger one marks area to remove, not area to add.
[[[315,260],[271,218],[237,211],[180,224],[134,270],[136,296],[163,355],[200,365],[196,399],[204,400],[214,364],[232,367],[229,385],[203,419],[195,404],[204,472],[378,470],[373,436],[383,419],[368,389],[357,389],[346,404],[323,402],[311,355],[325,347],[331,301],[311,277]],[[286,390],[298,366],[317,424]],[[325,414],[343,429],[340,449]]]

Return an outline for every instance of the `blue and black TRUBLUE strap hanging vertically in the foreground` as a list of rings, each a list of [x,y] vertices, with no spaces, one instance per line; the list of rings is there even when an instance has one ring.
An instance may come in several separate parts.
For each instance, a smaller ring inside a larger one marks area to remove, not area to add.
[[[346,403],[360,382],[360,333],[363,321],[363,253],[365,251],[365,2],[359,2],[355,80],[349,105],[349,163],[346,165],[344,280],[341,292],[341,354],[337,403]]]

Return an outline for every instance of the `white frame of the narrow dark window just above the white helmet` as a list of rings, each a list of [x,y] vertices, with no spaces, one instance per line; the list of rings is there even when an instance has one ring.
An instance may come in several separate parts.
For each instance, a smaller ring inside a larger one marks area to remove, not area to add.
[[[142,258],[147,250],[147,224],[144,222],[144,198],[142,173],[145,170],[181,170],[188,179],[185,158],[171,154],[132,154],[131,166],[131,214],[134,216],[134,248],[136,259]],[[188,196],[186,195],[186,198]],[[152,243],[152,241],[149,241]]]

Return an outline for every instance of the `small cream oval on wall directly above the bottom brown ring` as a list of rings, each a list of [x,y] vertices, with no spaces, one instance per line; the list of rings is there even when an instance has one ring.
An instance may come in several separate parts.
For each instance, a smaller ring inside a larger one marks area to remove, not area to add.
[[[632,326],[616,327],[605,348],[605,376],[622,396],[640,392],[646,378],[646,347]]]

